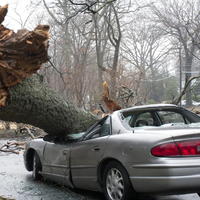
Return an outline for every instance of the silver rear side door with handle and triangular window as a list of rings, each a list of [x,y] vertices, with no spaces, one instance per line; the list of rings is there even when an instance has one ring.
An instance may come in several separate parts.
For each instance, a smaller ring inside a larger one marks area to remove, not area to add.
[[[110,134],[110,117],[107,117],[93,127],[82,141],[72,145],[71,173],[76,187],[98,190],[97,167]]]

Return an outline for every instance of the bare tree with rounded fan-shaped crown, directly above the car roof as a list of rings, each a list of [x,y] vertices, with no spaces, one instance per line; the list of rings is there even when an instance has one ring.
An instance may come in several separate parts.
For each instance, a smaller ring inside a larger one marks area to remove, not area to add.
[[[139,73],[140,81],[136,84],[136,96],[148,95],[155,101],[160,101],[155,81],[159,71],[164,71],[166,67],[170,45],[155,24],[145,18],[141,19],[140,14],[135,18],[137,20],[133,19],[127,28],[123,56],[132,70]],[[148,81],[149,79],[152,81]]]

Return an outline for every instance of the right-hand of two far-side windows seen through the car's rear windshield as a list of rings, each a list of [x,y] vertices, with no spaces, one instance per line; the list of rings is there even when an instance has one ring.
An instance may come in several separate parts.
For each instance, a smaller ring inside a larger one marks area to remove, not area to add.
[[[174,111],[158,111],[157,112],[162,124],[171,124],[171,123],[186,123],[183,115]]]

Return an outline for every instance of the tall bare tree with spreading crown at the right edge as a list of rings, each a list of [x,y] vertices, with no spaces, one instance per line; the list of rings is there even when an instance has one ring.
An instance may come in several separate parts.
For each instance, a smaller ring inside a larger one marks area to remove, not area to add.
[[[191,78],[192,63],[199,44],[199,1],[161,0],[151,8],[160,29],[183,46],[187,83]],[[186,90],[186,104],[192,104],[190,83]]]

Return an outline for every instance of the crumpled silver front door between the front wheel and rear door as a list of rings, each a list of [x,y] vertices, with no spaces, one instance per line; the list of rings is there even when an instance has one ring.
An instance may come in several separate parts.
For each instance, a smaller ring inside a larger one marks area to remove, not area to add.
[[[70,144],[47,142],[44,149],[43,173],[46,178],[71,185],[69,174]]]

